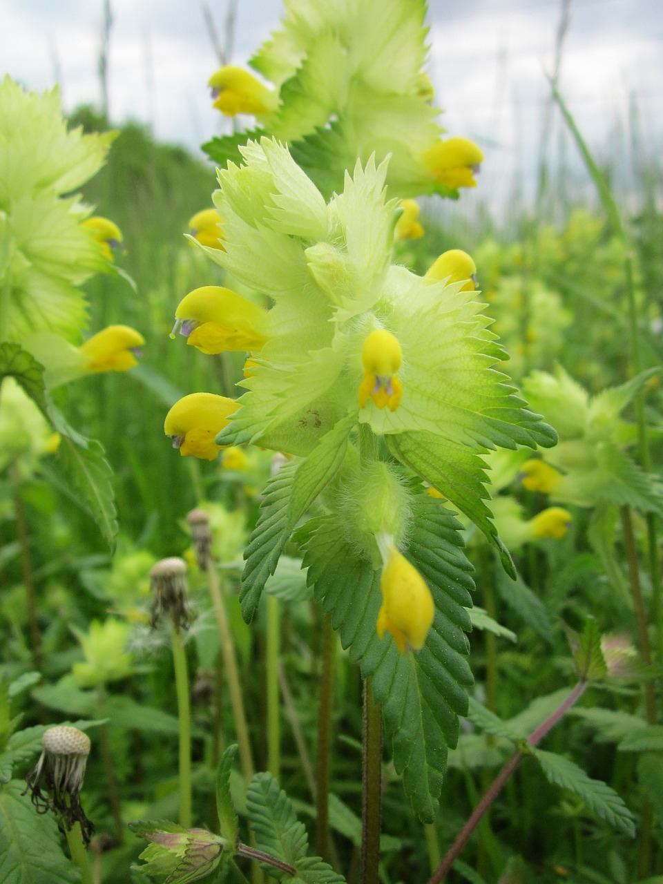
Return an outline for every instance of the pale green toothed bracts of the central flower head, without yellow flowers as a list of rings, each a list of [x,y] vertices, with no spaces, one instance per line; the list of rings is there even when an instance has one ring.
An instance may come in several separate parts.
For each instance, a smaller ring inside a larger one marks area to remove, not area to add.
[[[250,441],[306,456],[349,417],[392,439],[392,453],[438,485],[435,473],[399,453],[430,450],[433,440],[445,452],[438,469],[469,476],[460,493],[440,490],[476,521],[484,464],[468,464],[468,454],[550,446],[555,436],[492,368],[506,354],[474,293],[392,265],[396,202],[385,200],[386,162],[357,163],[344,192],[325,204],[277,141],[249,142],[241,152],[245,165],[220,171],[214,194],[225,251],[205,250],[273,306],[267,342],[240,383],[248,390],[242,408],[218,444]],[[359,408],[362,345],[378,328],[402,348],[403,394],[393,412],[372,401]]]

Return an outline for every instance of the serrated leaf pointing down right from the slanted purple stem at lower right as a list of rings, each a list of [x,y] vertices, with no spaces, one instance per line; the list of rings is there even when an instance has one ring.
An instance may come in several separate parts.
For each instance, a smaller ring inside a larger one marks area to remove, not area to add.
[[[603,781],[592,780],[582,767],[555,752],[533,749],[532,754],[541,765],[546,780],[582,798],[592,812],[620,834],[635,837],[633,814],[614,789]]]

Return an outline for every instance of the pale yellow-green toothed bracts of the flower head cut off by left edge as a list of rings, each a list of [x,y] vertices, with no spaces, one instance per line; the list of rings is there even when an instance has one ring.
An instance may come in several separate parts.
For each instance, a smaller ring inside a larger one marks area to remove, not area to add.
[[[0,83],[0,339],[34,331],[73,339],[86,321],[77,286],[107,262],[64,198],[102,166],[115,133],[67,132],[57,88],[27,94]]]

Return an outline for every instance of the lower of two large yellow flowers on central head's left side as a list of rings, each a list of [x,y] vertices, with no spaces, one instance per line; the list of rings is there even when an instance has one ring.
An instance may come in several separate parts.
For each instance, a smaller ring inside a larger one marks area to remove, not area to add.
[[[213,461],[221,451],[214,439],[238,408],[236,400],[211,392],[192,392],[178,400],[164,421],[164,433],[182,457],[193,454]]]

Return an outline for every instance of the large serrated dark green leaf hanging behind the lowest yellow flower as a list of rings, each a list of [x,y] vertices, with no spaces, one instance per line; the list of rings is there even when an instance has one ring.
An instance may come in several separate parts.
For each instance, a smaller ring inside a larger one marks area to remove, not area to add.
[[[385,737],[413,810],[431,821],[446,771],[446,747],[455,746],[458,716],[467,712],[472,674],[466,659],[466,608],[473,583],[453,515],[421,494],[413,500],[412,516],[409,543],[401,552],[423,575],[436,606],[420,652],[401,656],[391,636],[378,638],[380,573],[358,555],[336,517],[309,522],[304,566],[341,644],[349,647],[351,659],[360,660],[364,678],[371,677],[374,698],[383,704]]]

